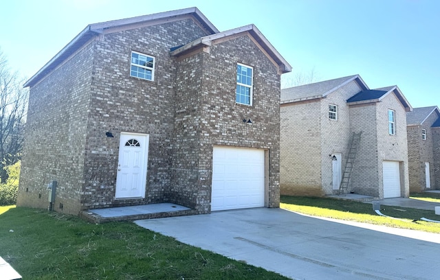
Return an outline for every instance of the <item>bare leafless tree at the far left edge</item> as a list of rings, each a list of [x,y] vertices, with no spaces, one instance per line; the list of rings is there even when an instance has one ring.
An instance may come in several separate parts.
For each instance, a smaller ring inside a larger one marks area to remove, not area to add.
[[[28,90],[23,89],[24,79],[8,67],[0,50],[0,183],[6,183],[5,168],[16,163],[21,156],[23,127],[28,104]]]

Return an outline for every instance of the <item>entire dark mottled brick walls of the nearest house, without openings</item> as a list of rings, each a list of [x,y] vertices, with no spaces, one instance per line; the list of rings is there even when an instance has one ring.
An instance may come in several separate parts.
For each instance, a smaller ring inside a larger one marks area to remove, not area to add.
[[[209,213],[213,145],[234,145],[268,151],[278,207],[280,75],[247,36],[170,56],[205,35],[191,19],[104,33],[32,86],[17,205],[46,208],[58,180],[65,213],[157,202]],[[153,82],[129,77],[132,50],[155,57]],[[253,106],[234,102],[237,62],[254,67]],[[120,132],[149,135],[145,198],[115,200]]]

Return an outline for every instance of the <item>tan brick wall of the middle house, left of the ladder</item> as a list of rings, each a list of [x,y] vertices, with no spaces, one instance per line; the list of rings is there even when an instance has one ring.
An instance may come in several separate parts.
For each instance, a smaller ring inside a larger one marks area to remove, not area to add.
[[[350,139],[346,100],[360,91],[350,82],[326,98],[281,105],[281,194],[333,194],[331,154],[342,154]],[[317,93],[318,94],[318,93]],[[329,119],[329,104],[338,106],[338,119]]]

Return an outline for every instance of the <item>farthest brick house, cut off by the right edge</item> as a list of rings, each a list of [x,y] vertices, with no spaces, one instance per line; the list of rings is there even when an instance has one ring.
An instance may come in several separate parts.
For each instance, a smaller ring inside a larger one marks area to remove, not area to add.
[[[406,113],[410,191],[440,189],[440,110],[414,108]]]

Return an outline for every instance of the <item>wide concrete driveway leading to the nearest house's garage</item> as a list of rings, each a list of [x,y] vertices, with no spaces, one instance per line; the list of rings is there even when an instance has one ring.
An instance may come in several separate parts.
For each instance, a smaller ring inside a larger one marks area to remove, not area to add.
[[[439,279],[440,275],[438,234],[267,208],[135,223],[292,279]]]

